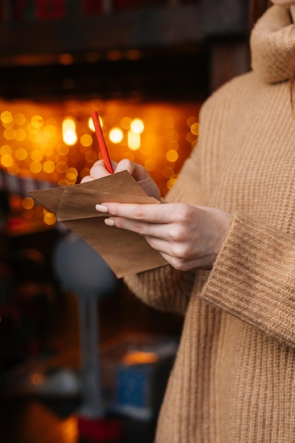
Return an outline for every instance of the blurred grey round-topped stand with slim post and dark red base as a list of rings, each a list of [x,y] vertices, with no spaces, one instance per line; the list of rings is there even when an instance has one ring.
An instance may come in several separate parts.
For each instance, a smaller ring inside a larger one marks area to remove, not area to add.
[[[57,242],[54,271],[64,289],[77,295],[81,347],[81,408],[79,430],[95,442],[115,441],[120,423],[105,419],[98,352],[98,299],[117,287],[112,270],[86,241],[68,233]]]

